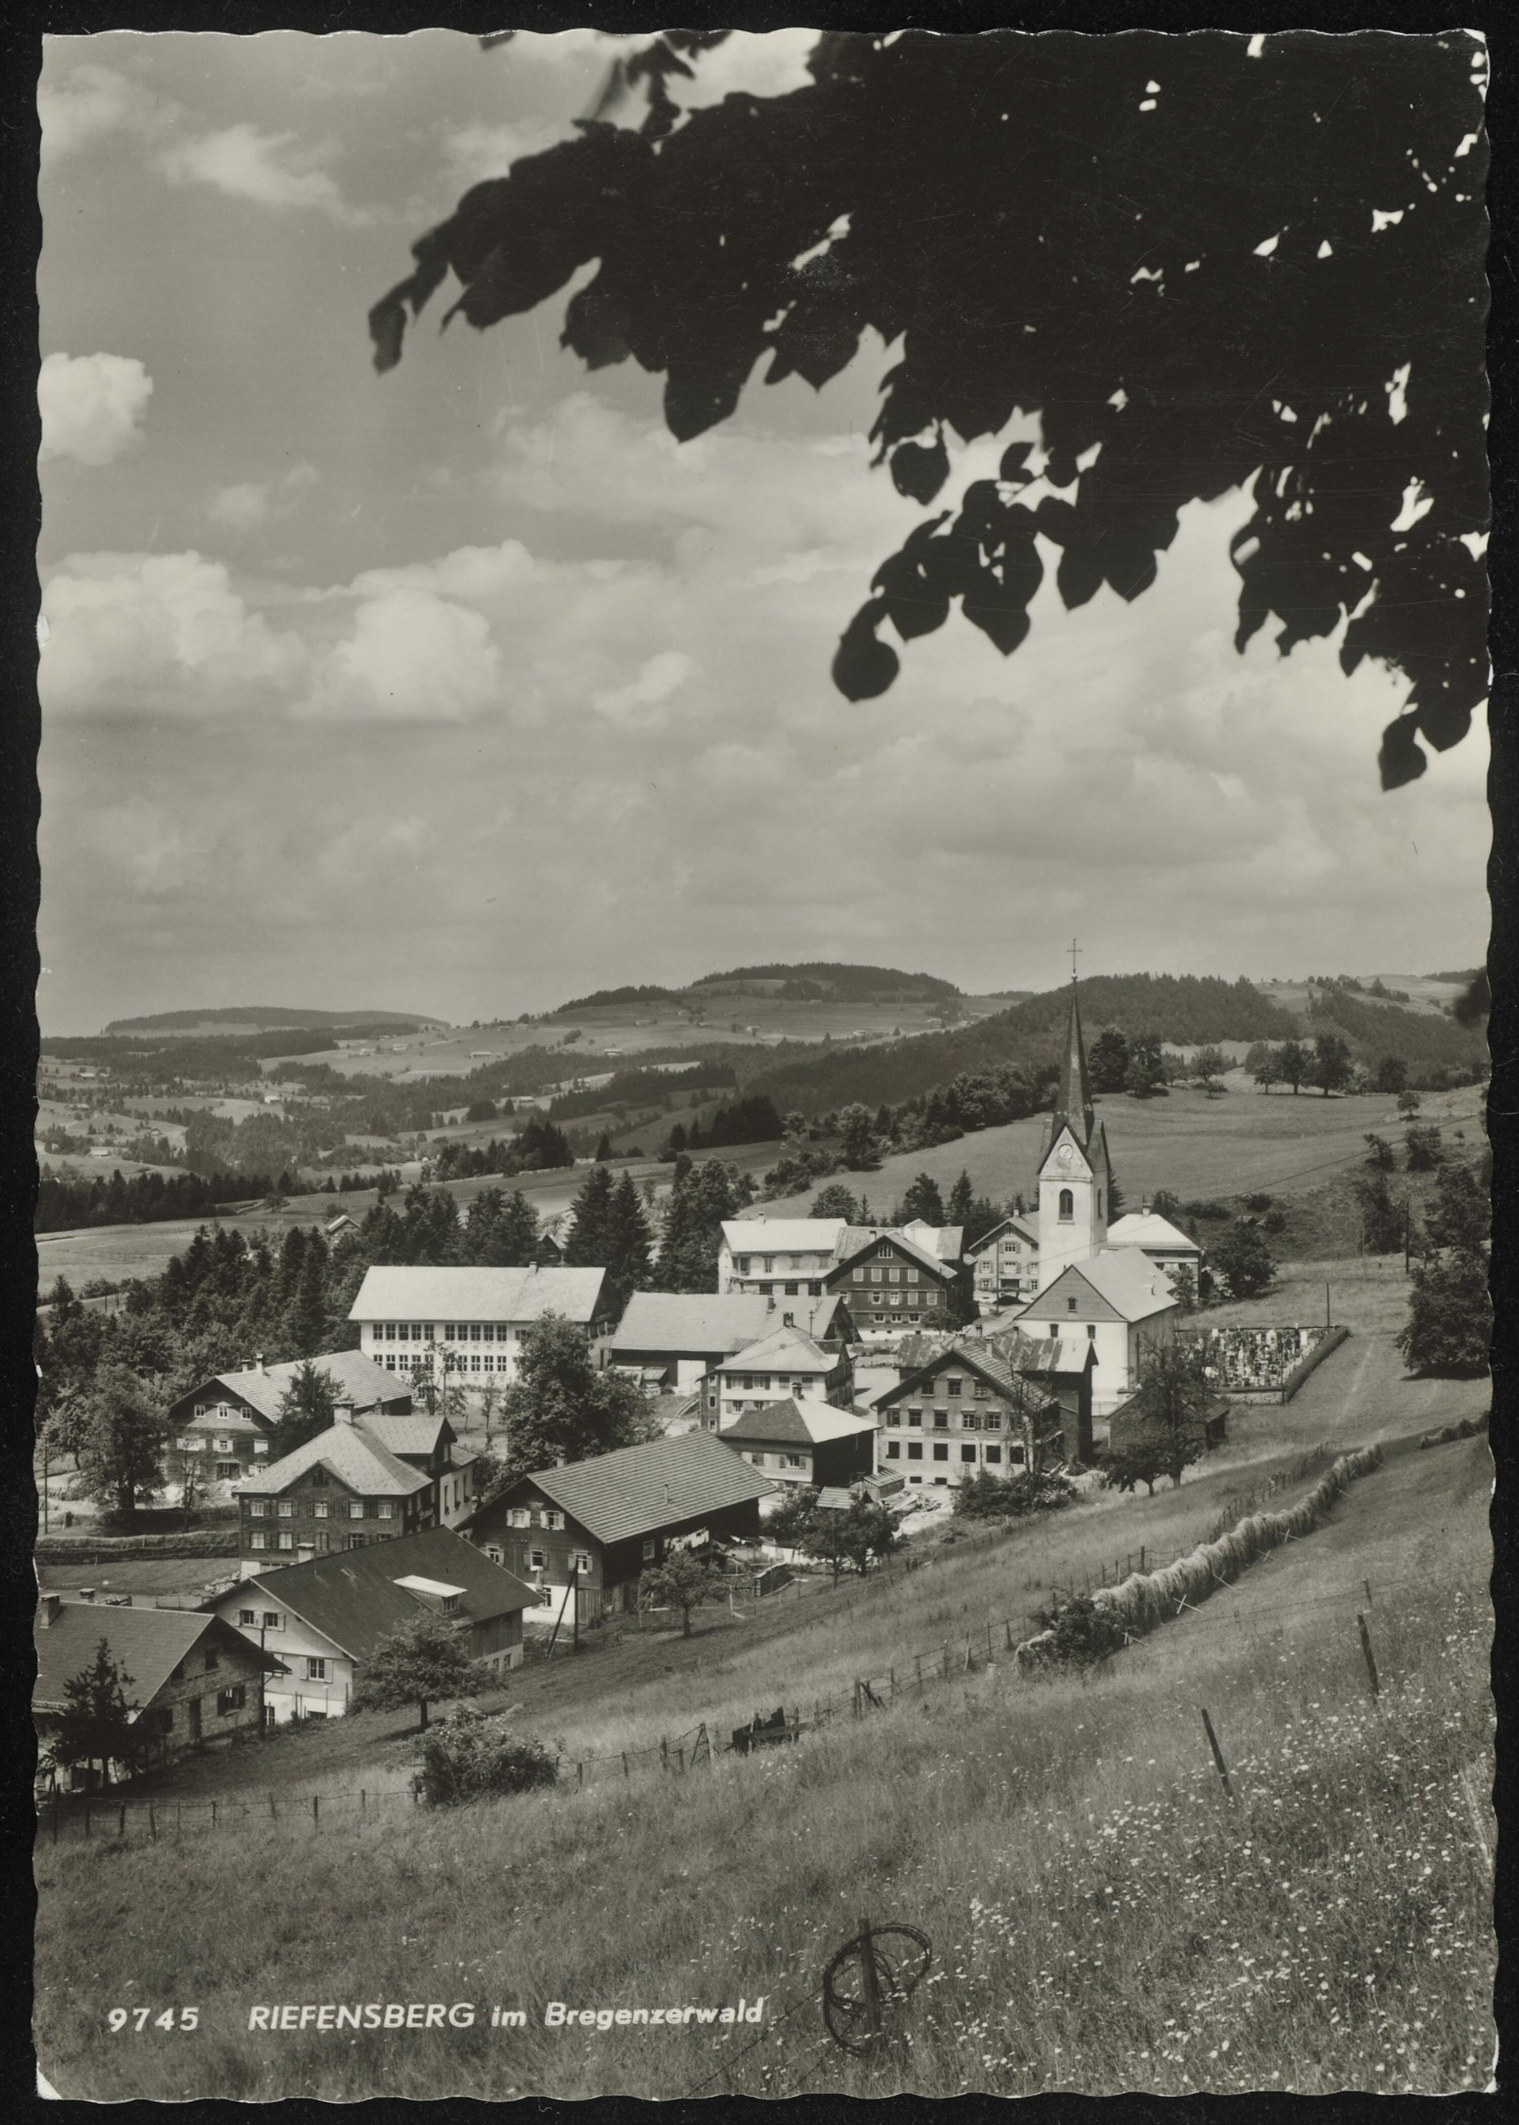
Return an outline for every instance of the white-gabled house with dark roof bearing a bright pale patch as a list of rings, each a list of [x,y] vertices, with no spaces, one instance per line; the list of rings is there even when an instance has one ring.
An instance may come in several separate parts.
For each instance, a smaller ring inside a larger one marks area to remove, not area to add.
[[[266,1719],[336,1719],[387,1632],[419,1615],[457,1617],[465,1651],[489,1668],[523,1664],[523,1611],[537,1596],[450,1528],[385,1549],[310,1556],[253,1572],[208,1606],[246,1643],[276,1655]]]

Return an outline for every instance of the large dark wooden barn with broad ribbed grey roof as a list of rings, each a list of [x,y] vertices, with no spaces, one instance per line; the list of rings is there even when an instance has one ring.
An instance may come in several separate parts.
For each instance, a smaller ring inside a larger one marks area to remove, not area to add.
[[[710,1432],[682,1432],[523,1475],[461,1532],[540,1590],[544,1624],[580,1626],[635,1609],[642,1572],[673,1549],[758,1536],[773,1490]]]

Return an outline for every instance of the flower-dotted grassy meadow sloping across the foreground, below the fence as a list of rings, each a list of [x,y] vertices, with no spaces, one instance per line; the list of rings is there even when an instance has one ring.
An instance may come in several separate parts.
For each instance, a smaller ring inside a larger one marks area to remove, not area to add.
[[[1392,1456],[1328,1526],[1083,1679],[1001,1660],[684,1779],[42,1847],[42,2072],[66,2097],[255,2102],[1483,2087],[1487,1485],[1481,1439]],[[933,1964],[888,2051],[852,2061],[816,1995],[860,1912],[920,1927]],[[739,1995],[765,2000],[761,2029],[544,2025],[550,2000]],[[476,2021],[249,2029],[280,2002]],[[170,2004],[200,2008],[193,2036],[106,2027]],[[493,2004],[525,2027],[491,2029]]]

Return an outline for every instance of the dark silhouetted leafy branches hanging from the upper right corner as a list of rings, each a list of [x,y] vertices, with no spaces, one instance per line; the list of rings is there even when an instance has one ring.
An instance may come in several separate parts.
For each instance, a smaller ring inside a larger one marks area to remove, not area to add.
[[[1236,646],[1270,620],[1283,654],[1343,629],[1345,672],[1404,674],[1389,788],[1423,771],[1419,737],[1466,735],[1487,688],[1462,544],[1487,508],[1481,38],[826,32],[807,87],[682,113],[722,34],[618,62],[576,140],[423,236],[370,312],[376,368],[450,272],[484,329],[595,266],[565,344],[663,372],[686,440],[763,357],[767,382],[820,389],[873,329],[899,348],[871,434],[901,495],[939,495],[950,431],[1020,410],[1041,448],[1009,444],[882,563],[835,657],[848,699],[897,678],[886,627],[914,642],[956,601],[1011,654],[1037,538],[1066,606],[1137,599],[1181,504],[1249,487]]]

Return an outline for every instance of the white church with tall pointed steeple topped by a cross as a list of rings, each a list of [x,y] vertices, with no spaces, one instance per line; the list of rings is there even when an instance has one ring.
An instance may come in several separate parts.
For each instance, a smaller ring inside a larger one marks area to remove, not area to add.
[[[1092,1415],[1105,1417],[1132,1394],[1143,1345],[1168,1337],[1177,1324],[1173,1271],[1196,1277],[1202,1258],[1194,1239],[1154,1211],[1109,1226],[1113,1173],[1107,1128],[1092,1105],[1075,980],[1037,1186],[1035,1296],[986,1322],[986,1332],[1086,1339],[1094,1360]]]

